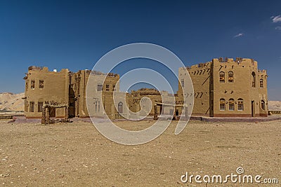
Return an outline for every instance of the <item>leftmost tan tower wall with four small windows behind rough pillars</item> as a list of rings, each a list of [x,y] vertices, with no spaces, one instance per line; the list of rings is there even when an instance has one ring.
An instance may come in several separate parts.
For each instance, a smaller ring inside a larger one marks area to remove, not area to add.
[[[25,116],[41,118],[42,104],[46,102],[68,105],[68,85],[68,69],[55,72],[47,67],[30,67],[25,76]],[[51,117],[64,116],[64,108],[51,111]]]

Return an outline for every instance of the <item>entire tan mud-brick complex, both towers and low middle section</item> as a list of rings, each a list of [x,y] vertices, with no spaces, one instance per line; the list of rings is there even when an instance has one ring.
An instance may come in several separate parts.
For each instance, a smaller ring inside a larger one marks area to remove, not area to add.
[[[192,80],[194,93],[186,89],[190,85],[186,69]],[[90,74],[92,80],[89,80]],[[126,93],[119,91],[118,74],[90,70],[72,73],[68,69],[56,72],[48,71],[46,67],[30,67],[25,76],[25,116],[41,118],[42,106],[55,103],[67,107],[50,109],[50,116],[53,118],[86,118],[89,117],[87,99],[93,116],[102,117],[106,114],[110,119],[132,116],[138,118],[153,116],[155,102],[181,105],[184,97],[194,97],[193,116],[268,115],[267,73],[266,70],[259,70],[254,60],[213,59],[211,62],[179,68],[178,79],[176,95],[148,88]],[[87,88],[88,81],[90,86]],[[89,95],[86,95],[87,89]],[[189,92],[183,95],[183,89]],[[190,106],[191,103],[186,104]],[[176,114],[181,115],[182,110],[183,108],[178,107]],[[173,106],[165,106],[159,111],[171,114],[174,109]]]

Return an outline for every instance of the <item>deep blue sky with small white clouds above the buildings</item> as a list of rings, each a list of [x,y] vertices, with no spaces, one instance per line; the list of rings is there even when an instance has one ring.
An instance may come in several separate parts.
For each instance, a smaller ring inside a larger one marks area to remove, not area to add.
[[[31,65],[92,69],[108,51],[148,42],[186,66],[249,57],[281,100],[281,1],[0,0],[0,92],[23,92]],[[279,17],[278,17],[279,16]]]

